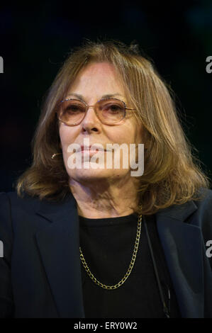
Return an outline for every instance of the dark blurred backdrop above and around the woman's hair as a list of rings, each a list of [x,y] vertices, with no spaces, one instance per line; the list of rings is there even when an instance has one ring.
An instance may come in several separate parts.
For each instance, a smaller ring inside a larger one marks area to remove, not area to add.
[[[12,191],[30,165],[42,98],[62,62],[72,47],[97,38],[136,40],[153,60],[177,95],[186,136],[211,177],[212,1],[75,2],[1,2],[0,191]]]

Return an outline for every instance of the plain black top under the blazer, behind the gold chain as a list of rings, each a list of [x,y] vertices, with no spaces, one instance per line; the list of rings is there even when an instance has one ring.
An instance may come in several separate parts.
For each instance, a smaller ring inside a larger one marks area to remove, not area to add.
[[[143,220],[144,218],[143,216]],[[170,317],[179,318],[181,314],[157,232],[155,216],[147,218],[165,302],[168,303],[169,286]],[[79,216],[79,226],[80,247],[91,273],[107,286],[116,285],[125,276],[133,255],[138,216],[132,214],[101,219]],[[85,317],[165,317],[143,222],[135,264],[122,286],[115,290],[101,288],[91,280],[82,263],[81,267]]]

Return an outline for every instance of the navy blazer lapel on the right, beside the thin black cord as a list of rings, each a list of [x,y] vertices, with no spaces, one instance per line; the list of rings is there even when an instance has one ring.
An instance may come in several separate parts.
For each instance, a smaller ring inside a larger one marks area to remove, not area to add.
[[[182,317],[204,317],[201,230],[184,222],[195,210],[196,204],[189,201],[156,213],[157,230]]]

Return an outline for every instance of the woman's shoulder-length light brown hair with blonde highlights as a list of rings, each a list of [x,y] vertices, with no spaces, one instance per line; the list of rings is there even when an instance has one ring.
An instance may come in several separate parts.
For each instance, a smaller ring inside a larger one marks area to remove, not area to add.
[[[140,176],[136,212],[148,215],[173,204],[200,200],[199,190],[210,186],[209,179],[184,135],[172,89],[152,61],[135,47],[117,41],[89,41],[72,50],[65,60],[45,97],[32,141],[32,165],[16,182],[18,196],[25,192],[40,200],[60,201],[70,192],[62,154],[52,159],[52,154],[62,152],[55,110],[79,71],[90,62],[113,64],[128,101],[136,109],[135,116],[145,129],[145,169]]]

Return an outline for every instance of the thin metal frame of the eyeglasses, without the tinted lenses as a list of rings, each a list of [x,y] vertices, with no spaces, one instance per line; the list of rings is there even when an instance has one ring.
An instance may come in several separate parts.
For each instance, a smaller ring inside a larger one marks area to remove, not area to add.
[[[97,103],[99,103],[100,101],[108,101],[110,99],[115,99],[116,101],[120,101],[123,103],[124,105],[124,115],[123,115],[123,118],[121,118],[120,120],[118,120],[116,123],[119,123],[121,120],[123,120],[125,118],[125,115],[126,115],[126,111],[127,110],[135,110],[135,108],[128,108],[125,104],[124,101],[121,101],[121,99],[118,99],[118,98],[113,98],[113,97],[106,97],[106,98],[101,98],[99,99],[99,101],[96,101],[96,103],[92,106],[89,106],[85,101],[82,101],[81,99],[77,99],[77,98],[67,98],[67,99],[63,99],[62,101],[60,101],[60,104],[63,103],[64,101],[79,101],[79,102],[82,102],[84,103],[84,105],[87,107],[87,110],[85,111],[84,113],[84,116],[82,118],[82,120],[84,120],[85,116],[87,115],[87,112],[89,111],[89,108],[94,108],[94,112],[97,116],[97,118],[101,121],[101,119],[99,118],[99,115],[96,113],[96,110],[95,110],[95,106]],[[61,120],[59,118],[59,115],[58,115],[58,111],[59,111],[59,107],[60,107],[60,104],[57,106],[57,110],[56,110],[56,113],[57,113],[57,119],[60,120],[62,123],[65,123],[65,121]],[[73,125],[69,125],[67,123],[65,123],[67,126],[77,126],[79,125],[80,123],[82,123],[82,120],[79,121],[79,123],[74,123]],[[101,121],[101,123],[103,123],[104,125],[113,125],[113,124],[116,124],[116,123],[104,123],[103,121]]]

